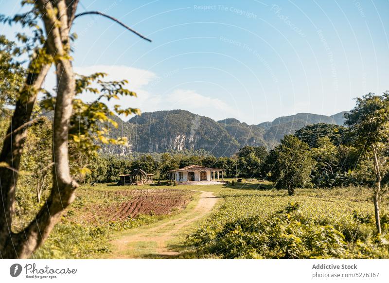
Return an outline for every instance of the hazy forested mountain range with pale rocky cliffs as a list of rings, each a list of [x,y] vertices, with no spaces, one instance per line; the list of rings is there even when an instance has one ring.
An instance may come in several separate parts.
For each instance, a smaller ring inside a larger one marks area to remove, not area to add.
[[[285,135],[294,134],[308,124],[344,124],[344,113],[325,116],[298,113],[257,125],[230,118],[214,121],[186,110],[145,112],[124,122],[111,117],[119,126],[110,129],[111,137],[127,137],[128,144],[103,145],[109,154],[162,153],[183,150],[205,150],[216,157],[231,156],[245,145],[271,149]]]

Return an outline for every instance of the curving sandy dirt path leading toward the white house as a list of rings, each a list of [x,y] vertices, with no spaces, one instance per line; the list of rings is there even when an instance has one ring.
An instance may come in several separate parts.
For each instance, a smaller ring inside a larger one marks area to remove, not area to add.
[[[111,258],[159,258],[178,255],[168,248],[168,242],[177,240],[181,230],[211,212],[218,198],[212,192],[201,192],[193,209],[184,211],[162,223],[130,230],[118,239],[112,240],[115,247]]]

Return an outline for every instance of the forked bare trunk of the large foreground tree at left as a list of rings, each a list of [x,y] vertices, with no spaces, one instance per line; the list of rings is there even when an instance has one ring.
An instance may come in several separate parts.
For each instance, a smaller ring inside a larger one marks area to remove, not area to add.
[[[1,192],[4,209],[0,214],[0,256],[2,258],[28,258],[48,237],[61,212],[73,201],[74,189],[77,183],[72,180],[68,159],[68,123],[72,113],[72,100],[75,95],[75,80],[69,57],[69,30],[74,18],[78,0],[59,0],[51,2],[40,0],[39,9],[47,34],[48,54],[56,57],[57,97],[53,121],[53,188],[45,205],[27,228],[19,233],[11,231],[13,206],[15,202],[15,187],[18,179],[18,169],[22,147],[26,133],[22,130],[13,133],[4,140],[0,161],[12,164],[13,170],[0,167]],[[55,5],[55,7],[53,7]],[[58,17],[54,13],[58,11]],[[60,23],[58,25],[58,22]],[[33,64],[33,63],[31,63]],[[12,128],[18,128],[29,121],[35,103],[37,90],[51,66],[43,65],[38,74],[27,78],[14,111]],[[32,66],[34,67],[34,66]],[[33,68],[32,68],[33,69]],[[30,93],[32,87],[33,92]],[[11,151],[12,149],[12,151]],[[5,185],[5,186],[4,186]]]

